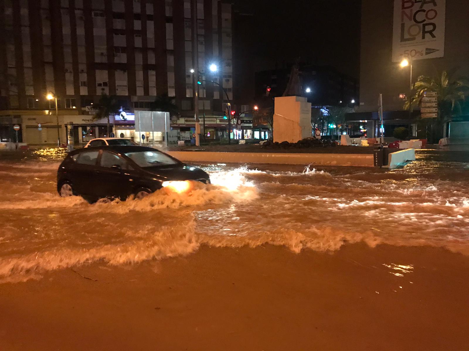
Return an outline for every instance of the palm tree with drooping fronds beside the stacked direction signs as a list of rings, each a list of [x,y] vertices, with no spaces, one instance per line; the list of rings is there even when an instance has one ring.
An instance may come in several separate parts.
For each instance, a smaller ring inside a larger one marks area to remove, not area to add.
[[[421,104],[427,91],[437,93],[438,117],[431,118],[430,128],[427,128],[427,138],[434,142],[441,136],[443,124],[449,121],[454,113],[461,113],[461,104],[469,91],[469,85],[463,79],[453,80],[451,74],[446,71],[434,77],[420,76],[404,103],[404,110],[413,111]]]

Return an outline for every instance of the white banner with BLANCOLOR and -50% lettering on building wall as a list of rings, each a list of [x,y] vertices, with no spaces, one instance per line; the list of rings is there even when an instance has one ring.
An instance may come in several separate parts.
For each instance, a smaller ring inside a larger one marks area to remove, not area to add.
[[[394,0],[393,62],[443,57],[446,0]]]

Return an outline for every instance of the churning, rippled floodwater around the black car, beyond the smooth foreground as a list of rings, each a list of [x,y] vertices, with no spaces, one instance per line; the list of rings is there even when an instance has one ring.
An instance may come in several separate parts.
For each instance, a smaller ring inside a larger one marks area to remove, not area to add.
[[[270,243],[298,253],[345,243],[430,245],[469,254],[469,158],[419,151],[392,171],[202,165],[187,194],[89,204],[56,191],[58,159],[0,161],[0,279],[79,263],[134,263],[210,247]]]

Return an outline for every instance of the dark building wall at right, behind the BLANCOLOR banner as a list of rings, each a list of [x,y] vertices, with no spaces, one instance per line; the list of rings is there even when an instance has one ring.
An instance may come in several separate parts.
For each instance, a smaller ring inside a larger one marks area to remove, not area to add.
[[[395,8],[396,6],[398,8]],[[426,15],[425,11],[430,12]],[[445,12],[446,15],[444,15]],[[427,56],[434,48],[433,43],[424,46],[423,51],[413,51],[412,82],[415,82],[421,75],[436,77],[444,70],[453,72],[454,78],[468,77],[467,1],[386,0],[378,5],[374,0],[362,0],[360,104],[357,113],[350,115],[349,119],[351,121],[366,120],[367,128],[371,132],[368,133],[369,136],[373,132],[376,134],[378,132],[378,96],[382,94],[385,136],[392,136],[395,127],[404,126],[409,128],[411,137],[425,138],[425,130],[419,118],[420,111],[417,109],[414,113],[409,113],[403,110],[404,102],[410,93],[411,72],[410,65],[401,67],[398,60],[393,60],[393,32],[399,32],[400,29],[393,22],[393,16],[396,16],[396,13],[403,23],[415,22],[411,24],[411,32],[416,31],[416,35],[419,35],[417,39],[422,37],[422,30],[419,29],[421,23],[424,25],[428,23],[428,26],[432,26],[433,22],[436,22],[437,26],[443,24],[444,48],[439,47],[437,51],[439,55],[435,55],[442,57]],[[441,14],[443,18],[441,16],[434,18],[436,14]],[[420,31],[417,33],[418,30]],[[407,37],[408,34],[402,35],[404,36],[401,38],[402,42],[410,40]],[[427,37],[433,41],[442,39],[442,37],[432,38],[431,35]],[[399,41],[399,36],[397,39]],[[412,49],[411,46],[409,48]],[[445,136],[451,136],[451,129],[458,134],[465,131],[469,137],[469,116],[464,117],[469,111],[463,109],[461,113],[462,116],[457,117],[460,122],[456,124],[454,121],[453,128],[450,128],[449,124],[445,126]]]

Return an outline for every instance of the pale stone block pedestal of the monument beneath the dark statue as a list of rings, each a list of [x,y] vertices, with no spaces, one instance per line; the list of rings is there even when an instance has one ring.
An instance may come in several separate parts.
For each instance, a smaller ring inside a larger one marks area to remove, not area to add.
[[[311,136],[311,103],[301,96],[276,97],[273,141],[296,143]]]

